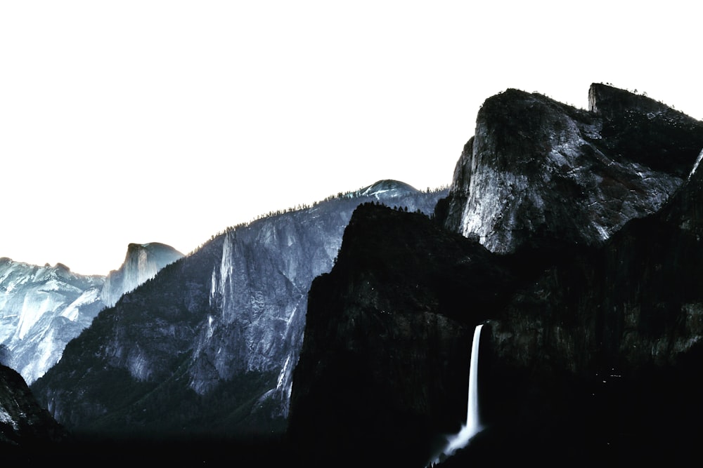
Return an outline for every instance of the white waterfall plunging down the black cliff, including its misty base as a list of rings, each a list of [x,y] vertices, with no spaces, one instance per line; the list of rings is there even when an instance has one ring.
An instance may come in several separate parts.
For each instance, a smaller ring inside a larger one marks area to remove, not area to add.
[[[466,422],[461,427],[457,434],[453,434],[447,439],[446,446],[441,450],[437,457],[434,457],[432,463],[439,463],[446,457],[451,457],[456,453],[456,450],[464,448],[468,445],[473,436],[481,432],[482,426],[479,417],[479,342],[481,341],[481,328],[483,323],[480,323],[474,330],[474,336],[471,344],[471,357],[469,367],[469,390],[468,401],[466,408]]]

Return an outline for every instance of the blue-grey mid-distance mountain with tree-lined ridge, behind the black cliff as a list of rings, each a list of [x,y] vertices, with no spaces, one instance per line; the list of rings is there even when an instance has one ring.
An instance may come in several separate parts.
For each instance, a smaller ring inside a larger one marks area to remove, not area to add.
[[[227,229],[101,312],[32,391],[74,432],[283,434],[309,286],[354,209],[432,213],[446,193],[382,180]]]

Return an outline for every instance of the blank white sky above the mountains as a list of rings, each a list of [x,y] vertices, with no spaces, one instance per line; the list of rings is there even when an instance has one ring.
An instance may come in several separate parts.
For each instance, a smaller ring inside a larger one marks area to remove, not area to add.
[[[451,182],[506,88],[703,119],[695,2],[0,0],[0,257],[107,274],[393,178]]]

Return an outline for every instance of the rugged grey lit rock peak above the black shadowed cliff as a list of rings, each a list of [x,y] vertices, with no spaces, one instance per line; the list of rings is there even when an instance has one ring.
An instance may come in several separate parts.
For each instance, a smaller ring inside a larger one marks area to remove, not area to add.
[[[508,89],[484,102],[457,163],[445,225],[496,253],[598,245],[659,210],[703,146],[703,123],[593,84],[591,109]]]

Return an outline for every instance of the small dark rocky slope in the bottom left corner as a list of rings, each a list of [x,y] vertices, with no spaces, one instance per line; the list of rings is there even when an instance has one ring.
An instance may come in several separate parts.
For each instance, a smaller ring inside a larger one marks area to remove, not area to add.
[[[8,463],[29,463],[67,441],[68,432],[41,408],[22,376],[0,366],[0,448]],[[16,466],[16,465],[15,465]],[[21,465],[20,465],[21,466]]]

